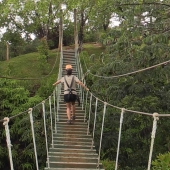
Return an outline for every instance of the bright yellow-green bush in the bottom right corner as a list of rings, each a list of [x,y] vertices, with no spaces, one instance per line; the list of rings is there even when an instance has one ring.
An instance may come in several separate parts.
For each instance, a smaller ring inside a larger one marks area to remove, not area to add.
[[[159,154],[157,158],[152,161],[152,170],[169,170],[170,167],[170,153]]]

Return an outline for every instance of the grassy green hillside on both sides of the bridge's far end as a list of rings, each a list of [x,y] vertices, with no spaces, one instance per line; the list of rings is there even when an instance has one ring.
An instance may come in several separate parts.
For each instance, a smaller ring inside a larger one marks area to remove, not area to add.
[[[64,49],[73,48],[72,46],[64,47]],[[96,43],[86,43],[83,45],[83,51],[87,55],[95,54],[98,56],[104,49]],[[8,77],[12,79],[28,79],[21,80],[20,83],[25,85],[32,95],[40,86],[50,86],[58,77],[60,56],[57,49],[49,51],[48,62],[42,64],[39,59],[39,53],[29,53],[20,55],[9,61],[0,62],[0,77]],[[53,87],[52,87],[53,88]],[[46,92],[47,93],[47,92]],[[45,95],[45,94],[44,94]]]

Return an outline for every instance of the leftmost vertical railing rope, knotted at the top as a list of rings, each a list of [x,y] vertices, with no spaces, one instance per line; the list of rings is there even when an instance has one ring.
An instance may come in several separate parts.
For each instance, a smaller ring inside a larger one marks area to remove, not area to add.
[[[9,161],[10,161],[10,167],[11,170],[14,170],[14,165],[13,165],[13,160],[12,160],[12,151],[11,151],[11,139],[10,139],[10,132],[9,132],[9,118],[5,117],[4,118],[4,123],[3,125],[5,126],[5,132],[6,132],[6,142],[7,142],[7,147],[8,147],[8,153],[9,153]]]

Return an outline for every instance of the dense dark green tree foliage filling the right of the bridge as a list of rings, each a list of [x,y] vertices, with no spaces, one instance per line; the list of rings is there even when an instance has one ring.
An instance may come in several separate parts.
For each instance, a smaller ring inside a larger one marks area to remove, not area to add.
[[[86,63],[83,64],[84,72],[90,70],[91,73],[86,77],[89,89],[98,98],[120,108],[146,113],[169,113],[170,67],[168,63],[136,74],[119,76],[169,61],[170,44],[167,38],[169,35],[163,28],[169,20],[163,19],[165,17],[163,10],[168,11],[168,8],[163,5],[154,6],[154,3],[153,5],[121,5],[123,3],[127,4],[127,1],[121,1],[120,6],[115,5],[119,17],[122,18],[120,27],[110,29],[100,36],[100,42],[106,46],[103,62],[95,60],[94,63],[90,63],[89,57],[84,57],[85,62],[83,62]],[[135,1],[135,3],[140,2]],[[145,12],[146,16],[143,18]],[[162,15],[158,17],[156,13]],[[151,16],[155,20],[152,20]],[[147,17],[150,20],[144,25]],[[100,107],[97,119],[99,122],[102,119],[102,106]],[[103,159],[114,160],[116,157],[120,112],[121,110],[107,108],[102,142]],[[152,121],[149,116],[125,112],[119,154],[120,169],[146,169]],[[99,122],[96,124],[98,127],[96,129],[101,127]],[[167,128],[169,119],[161,118],[158,126],[153,159],[159,153],[169,151],[169,142],[165,144],[169,139],[167,138],[170,132]],[[95,135],[96,146],[98,146],[100,130],[96,130]]]

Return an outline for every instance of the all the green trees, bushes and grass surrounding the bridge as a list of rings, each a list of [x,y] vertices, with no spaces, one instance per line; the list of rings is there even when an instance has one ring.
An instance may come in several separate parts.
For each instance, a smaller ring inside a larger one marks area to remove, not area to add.
[[[57,79],[59,65],[57,47],[61,7],[64,7],[65,48],[74,48],[74,23],[71,18],[73,10],[77,9],[79,48],[82,51],[80,59],[84,73],[89,72],[86,82],[91,92],[101,100],[121,108],[146,113],[169,113],[168,0],[66,0],[63,4],[52,0],[1,0],[0,8],[3,12],[0,15],[0,25],[5,33],[0,42],[0,119],[34,107],[52,93],[51,84]],[[117,20],[117,26],[113,25],[113,19]],[[10,57],[8,61],[7,45]],[[160,63],[164,64],[119,76]],[[102,111],[103,106],[99,105],[96,148],[99,145]],[[34,119],[39,164],[40,169],[43,169],[46,152],[43,149],[45,141],[40,142],[44,139],[41,107],[35,110]],[[119,119],[120,110],[108,107],[101,155],[106,170],[114,169]],[[27,113],[10,121],[13,159],[18,170],[35,169],[28,122]],[[124,114],[120,170],[146,169],[152,123],[152,117]],[[169,117],[158,120],[153,170],[169,169],[169,126]],[[10,167],[2,122],[0,134],[0,169],[7,170]]]

